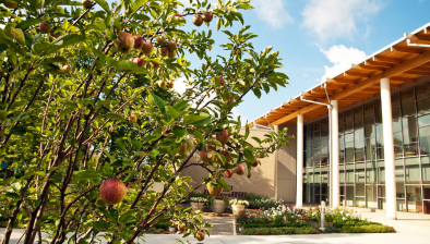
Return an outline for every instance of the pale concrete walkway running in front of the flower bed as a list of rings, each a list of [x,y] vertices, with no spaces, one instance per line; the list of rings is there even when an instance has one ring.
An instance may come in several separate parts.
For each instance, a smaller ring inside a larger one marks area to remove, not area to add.
[[[372,221],[381,222],[394,227],[398,233],[386,234],[313,234],[313,235],[211,235],[203,241],[208,244],[278,244],[278,243],[294,243],[294,244],[429,244],[430,243],[430,216],[414,215],[406,212],[398,212],[398,220],[387,220],[384,211],[370,212],[370,209],[354,208],[359,210],[362,217],[370,216]],[[219,220],[218,220],[219,219]],[[210,221],[217,227],[217,231],[223,233],[227,230],[228,217],[205,217],[205,221]],[[214,220],[214,221],[211,221]],[[227,221],[224,223],[223,221]],[[213,233],[217,233],[214,231]],[[231,230],[232,231],[232,230]],[[4,229],[0,229],[0,239]],[[24,230],[17,229],[13,232],[11,244],[16,243]],[[228,232],[228,231],[227,231]],[[193,237],[182,239],[182,235],[165,235],[165,234],[146,234],[143,241],[139,243],[151,244],[177,244],[177,240],[183,243],[199,243]]]

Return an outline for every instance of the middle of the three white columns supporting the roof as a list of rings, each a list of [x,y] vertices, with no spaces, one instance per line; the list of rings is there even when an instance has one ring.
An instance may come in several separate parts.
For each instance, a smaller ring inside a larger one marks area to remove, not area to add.
[[[337,208],[341,206],[341,193],[339,193],[339,118],[338,118],[338,108],[337,100],[331,100],[332,105],[332,184],[330,188],[332,190],[332,200],[331,203],[333,208]]]

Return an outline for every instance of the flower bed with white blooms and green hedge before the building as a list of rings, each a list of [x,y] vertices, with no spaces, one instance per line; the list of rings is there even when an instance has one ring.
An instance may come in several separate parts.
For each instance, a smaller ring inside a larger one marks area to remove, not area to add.
[[[361,218],[359,211],[326,208],[325,233],[391,233],[394,228]],[[249,209],[237,217],[242,234],[318,234],[320,208],[296,209],[284,204],[268,209]]]

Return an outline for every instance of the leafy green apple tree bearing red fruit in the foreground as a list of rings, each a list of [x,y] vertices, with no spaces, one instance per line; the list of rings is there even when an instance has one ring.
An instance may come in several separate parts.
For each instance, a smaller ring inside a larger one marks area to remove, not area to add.
[[[183,30],[191,19],[208,26],[215,17],[217,30],[243,24],[238,10],[252,9],[249,0],[2,2],[0,158],[15,171],[0,182],[2,244],[15,227],[26,228],[26,244],[41,242],[40,232],[51,243],[88,243],[100,231],[109,243],[133,243],[169,221],[201,239],[208,225],[178,204],[205,183],[228,190],[226,170],[246,163],[250,176],[255,158],[287,145],[283,131],[253,147],[248,125],[240,134],[231,118],[249,91],[260,97],[287,84],[275,71],[279,52],[255,52],[247,26],[223,30],[230,54],[212,58],[211,29]],[[190,69],[190,53],[202,60],[199,70]],[[189,84],[183,94],[171,89],[180,76]],[[195,188],[181,176],[192,158],[210,172]],[[118,183],[107,190],[115,196],[128,186],[119,204],[99,195],[107,179]],[[151,191],[155,182],[162,192]]]

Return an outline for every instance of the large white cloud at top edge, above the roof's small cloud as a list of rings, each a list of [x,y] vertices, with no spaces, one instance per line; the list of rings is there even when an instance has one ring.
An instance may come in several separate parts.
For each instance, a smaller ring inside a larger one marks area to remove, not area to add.
[[[308,0],[302,25],[322,41],[350,38],[358,33],[357,24],[366,24],[381,9],[381,0]]]

